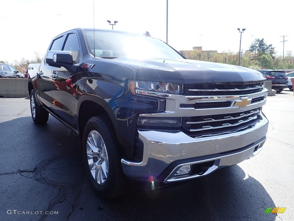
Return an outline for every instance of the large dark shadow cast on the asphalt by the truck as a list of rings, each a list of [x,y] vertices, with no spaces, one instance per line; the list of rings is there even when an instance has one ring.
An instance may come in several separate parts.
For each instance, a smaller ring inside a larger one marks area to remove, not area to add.
[[[0,163],[4,165],[0,191],[14,194],[18,199],[1,199],[4,209],[11,205],[18,209],[25,204],[25,210],[41,210],[40,207],[58,210],[59,217],[54,218],[57,220],[271,221],[276,218],[275,214],[264,213],[267,207],[275,207],[273,199],[258,180],[246,175],[238,165],[168,189],[131,190],[121,198],[104,200],[86,179],[78,136],[55,118],[50,116],[43,126],[34,125],[31,117],[16,118],[0,123],[0,128],[5,131],[0,139],[3,144]],[[10,160],[16,152],[25,159],[18,164]],[[11,177],[13,174],[21,176]],[[29,178],[27,186],[20,182],[25,177]],[[39,185],[40,192],[50,195],[47,198],[34,195],[30,192],[31,185]],[[61,189],[57,189],[59,186]],[[7,220],[6,216],[0,218]],[[38,220],[47,219],[52,217],[38,216]]]

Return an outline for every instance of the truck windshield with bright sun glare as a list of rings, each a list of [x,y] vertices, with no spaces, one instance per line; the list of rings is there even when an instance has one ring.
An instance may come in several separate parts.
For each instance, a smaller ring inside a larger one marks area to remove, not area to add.
[[[94,33],[83,31],[94,55]],[[159,39],[144,35],[95,31],[95,57],[131,57],[137,59],[183,59],[176,51]]]

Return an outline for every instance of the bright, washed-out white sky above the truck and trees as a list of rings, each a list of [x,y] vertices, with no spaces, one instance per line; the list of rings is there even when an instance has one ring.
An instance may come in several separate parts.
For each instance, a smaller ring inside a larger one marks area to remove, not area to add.
[[[166,0],[94,0],[94,5],[95,28],[111,29],[106,20],[118,21],[116,30],[148,31],[166,41]],[[203,50],[238,52],[237,28],[246,28],[243,51],[255,38],[264,38],[280,55],[280,36],[288,35],[285,52],[294,52],[290,1],[169,0],[168,6],[168,44],[178,51],[201,45]],[[1,0],[0,60],[30,59],[34,51],[44,55],[53,37],[93,27],[93,20],[93,0]]]

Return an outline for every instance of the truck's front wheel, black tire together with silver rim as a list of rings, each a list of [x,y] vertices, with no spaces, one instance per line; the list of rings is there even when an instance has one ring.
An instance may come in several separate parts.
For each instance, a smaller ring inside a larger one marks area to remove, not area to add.
[[[90,146],[93,149],[100,148],[100,152],[93,151]],[[108,116],[94,116],[88,120],[83,132],[83,160],[91,184],[105,199],[116,198],[125,193],[126,178],[121,168],[121,150]]]

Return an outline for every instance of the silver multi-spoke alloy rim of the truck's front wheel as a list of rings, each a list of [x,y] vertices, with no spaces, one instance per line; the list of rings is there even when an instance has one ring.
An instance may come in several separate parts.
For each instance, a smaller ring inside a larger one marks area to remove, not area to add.
[[[98,131],[91,131],[87,138],[87,159],[89,169],[96,183],[105,184],[108,178],[108,154],[106,145]]]

